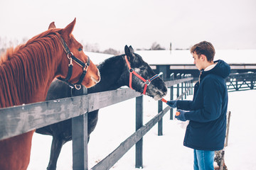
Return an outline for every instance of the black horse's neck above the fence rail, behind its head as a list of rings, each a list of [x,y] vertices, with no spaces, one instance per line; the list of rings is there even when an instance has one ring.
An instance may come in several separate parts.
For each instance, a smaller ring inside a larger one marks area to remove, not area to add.
[[[121,86],[127,85],[124,79],[124,72],[129,72],[126,69],[124,55],[119,55],[110,58],[109,61],[103,62],[99,66],[100,82],[88,89],[88,93],[96,93],[100,91],[110,91],[118,89]]]

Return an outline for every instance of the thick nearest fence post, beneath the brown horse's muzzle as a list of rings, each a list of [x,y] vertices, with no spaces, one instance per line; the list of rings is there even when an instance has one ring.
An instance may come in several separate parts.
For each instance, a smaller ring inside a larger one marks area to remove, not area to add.
[[[87,94],[84,86],[79,91],[74,91],[73,96],[82,94]],[[72,118],[73,170],[88,170],[87,138],[87,113],[85,113]]]

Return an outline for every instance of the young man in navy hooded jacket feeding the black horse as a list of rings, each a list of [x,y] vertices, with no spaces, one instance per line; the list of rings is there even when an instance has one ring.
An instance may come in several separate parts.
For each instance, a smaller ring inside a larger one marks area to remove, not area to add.
[[[225,78],[230,74],[230,66],[223,60],[213,62],[215,49],[210,42],[193,45],[191,54],[200,70],[193,101],[168,101],[167,104],[178,109],[180,115],[175,118],[190,120],[183,145],[194,149],[194,170],[211,170],[214,151],[224,147],[228,107]]]

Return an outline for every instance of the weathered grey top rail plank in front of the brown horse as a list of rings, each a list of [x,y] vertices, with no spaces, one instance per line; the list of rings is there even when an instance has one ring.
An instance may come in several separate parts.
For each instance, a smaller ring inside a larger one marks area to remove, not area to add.
[[[61,100],[0,109],[0,140],[73,118],[87,111],[87,98],[81,96]]]

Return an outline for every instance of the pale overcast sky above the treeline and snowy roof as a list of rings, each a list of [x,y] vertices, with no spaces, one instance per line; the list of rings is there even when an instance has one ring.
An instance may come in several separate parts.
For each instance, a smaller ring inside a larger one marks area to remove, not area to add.
[[[153,42],[188,48],[202,40],[216,49],[256,49],[255,0],[0,0],[0,37],[32,38],[55,21],[100,50]]]

